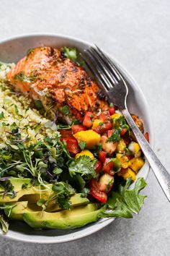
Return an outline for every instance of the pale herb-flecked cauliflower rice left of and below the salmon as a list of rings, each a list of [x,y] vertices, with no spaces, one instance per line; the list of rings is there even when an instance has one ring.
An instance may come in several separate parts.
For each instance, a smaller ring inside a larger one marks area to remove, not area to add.
[[[55,137],[58,132],[44,127],[49,121],[39,111],[32,108],[27,96],[14,93],[12,85],[6,80],[6,74],[14,64],[0,63],[0,147],[9,139],[12,127],[19,128],[21,139],[29,138],[27,143],[36,143],[44,137]]]

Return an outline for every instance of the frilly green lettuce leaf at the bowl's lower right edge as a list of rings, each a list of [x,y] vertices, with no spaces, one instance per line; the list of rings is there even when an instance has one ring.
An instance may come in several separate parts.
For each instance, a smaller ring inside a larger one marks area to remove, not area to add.
[[[142,208],[146,195],[139,195],[141,189],[146,187],[146,181],[139,178],[134,189],[128,189],[131,179],[127,179],[125,187],[120,185],[117,192],[112,191],[111,197],[107,201],[108,212],[99,213],[99,217],[123,217],[133,218],[133,213],[138,214]]]

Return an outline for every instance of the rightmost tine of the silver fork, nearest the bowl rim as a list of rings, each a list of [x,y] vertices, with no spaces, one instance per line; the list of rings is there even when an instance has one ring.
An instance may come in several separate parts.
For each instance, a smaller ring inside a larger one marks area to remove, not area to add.
[[[117,80],[120,81],[122,79],[122,76],[121,76],[120,72],[117,70],[117,68],[115,67],[115,65],[112,63],[111,59],[109,59],[109,57],[106,54],[104,54],[104,52],[97,45],[95,45],[95,46],[96,46],[96,48],[94,48],[94,49],[98,53],[99,56],[102,56],[104,64],[106,64],[107,67],[109,66],[109,70],[111,70],[112,72],[113,72],[113,70],[115,71],[114,74],[117,77]]]

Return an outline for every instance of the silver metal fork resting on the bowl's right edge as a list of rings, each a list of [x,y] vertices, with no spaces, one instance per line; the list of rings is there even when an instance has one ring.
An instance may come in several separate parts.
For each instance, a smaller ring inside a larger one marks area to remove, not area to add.
[[[99,86],[105,91],[109,101],[117,105],[121,110],[125,119],[128,121],[130,128],[138,140],[140,148],[146,155],[148,162],[150,163],[153,172],[161,185],[166,197],[170,202],[170,174],[166,171],[166,168],[158,160],[156,154],[151,149],[146,138],[143,136],[138,126],[133,121],[127,107],[128,86],[125,82],[125,77],[115,67],[109,57],[104,54],[97,46],[90,46],[84,50],[84,54],[81,54],[86,65],[89,67],[91,73],[97,78]]]

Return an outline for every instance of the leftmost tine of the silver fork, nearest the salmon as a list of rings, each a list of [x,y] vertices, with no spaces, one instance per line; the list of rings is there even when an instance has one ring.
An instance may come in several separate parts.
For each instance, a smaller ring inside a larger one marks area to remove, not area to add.
[[[104,80],[102,80],[102,77],[98,74],[98,72],[94,72],[94,70],[97,70],[93,64],[93,62],[91,61],[91,58],[85,55],[85,51],[84,51],[84,55],[80,54],[82,59],[84,59],[86,66],[89,68],[89,70],[91,71],[92,74],[94,74],[94,77],[97,77],[97,80],[99,81],[99,87],[103,90],[105,89],[106,92],[108,90],[107,88],[107,84]],[[102,86],[104,84],[104,87]]]

